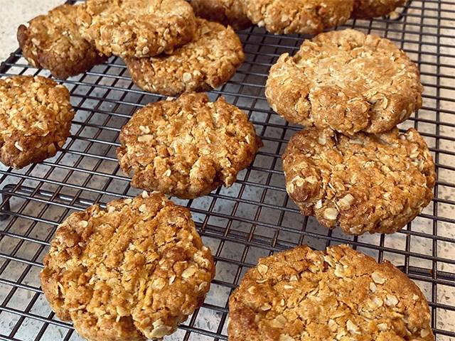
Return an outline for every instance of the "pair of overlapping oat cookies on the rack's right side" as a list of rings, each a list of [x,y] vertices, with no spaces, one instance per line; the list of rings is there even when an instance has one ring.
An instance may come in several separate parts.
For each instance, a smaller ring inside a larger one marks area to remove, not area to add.
[[[415,129],[397,124],[422,106],[419,70],[390,40],[321,33],[272,66],[265,94],[291,123],[287,192],[304,215],[347,234],[392,233],[432,200],[434,162]]]

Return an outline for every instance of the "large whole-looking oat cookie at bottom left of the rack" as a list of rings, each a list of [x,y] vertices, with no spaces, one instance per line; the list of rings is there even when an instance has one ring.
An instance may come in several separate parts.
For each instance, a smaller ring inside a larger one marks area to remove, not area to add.
[[[58,318],[87,340],[146,340],[174,332],[214,275],[189,210],[144,192],[60,224],[41,287]]]

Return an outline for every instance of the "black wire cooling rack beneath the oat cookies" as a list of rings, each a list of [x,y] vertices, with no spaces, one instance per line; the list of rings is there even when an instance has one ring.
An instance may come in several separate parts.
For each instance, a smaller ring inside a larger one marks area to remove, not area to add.
[[[419,64],[424,107],[400,127],[417,128],[433,153],[438,179],[432,203],[387,236],[349,237],[299,215],[284,190],[280,159],[299,127],[269,109],[264,83],[278,56],[294,53],[308,37],[242,31],[247,61],[210,97],[223,95],[245,110],[265,146],[232,188],[175,200],[193,213],[215,255],[217,275],[203,308],[166,340],[227,340],[228,296],[242,274],[259,256],[303,243],[317,249],[349,243],[379,261],[390,259],[427,296],[437,340],[455,340],[455,0],[412,0],[398,14],[344,27],[390,38]],[[0,67],[1,76],[15,74],[48,72],[27,65],[17,50]],[[138,193],[117,164],[118,133],[137,107],[161,99],[134,87],[119,58],[61,83],[77,111],[63,150],[21,171],[0,168],[0,340],[80,340],[45,303],[38,281],[43,255],[70,212]]]

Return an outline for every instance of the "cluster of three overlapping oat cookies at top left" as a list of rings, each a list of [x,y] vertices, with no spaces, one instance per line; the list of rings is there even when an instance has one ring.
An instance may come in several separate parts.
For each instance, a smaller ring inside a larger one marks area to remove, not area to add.
[[[107,57],[124,58],[134,83],[164,95],[227,82],[245,55],[230,27],[196,18],[184,0],[88,0],[18,28],[24,57],[67,78]]]

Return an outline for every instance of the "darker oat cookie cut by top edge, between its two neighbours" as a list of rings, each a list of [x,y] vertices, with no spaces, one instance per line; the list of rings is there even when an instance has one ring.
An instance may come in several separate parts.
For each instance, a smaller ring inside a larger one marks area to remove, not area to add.
[[[252,23],[240,0],[192,0],[194,13],[200,18],[232,26],[235,30],[249,28]]]

